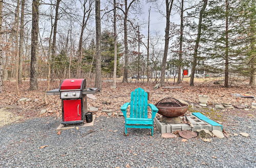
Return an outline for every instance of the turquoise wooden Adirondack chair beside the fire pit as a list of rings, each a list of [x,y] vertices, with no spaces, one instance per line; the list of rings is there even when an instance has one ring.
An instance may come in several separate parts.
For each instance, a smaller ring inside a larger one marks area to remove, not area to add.
[[[130,105],[130,117],[127,117],[127,107]],[[147,106],[152,109],[152,117],[147,118]],[[121,106],[121,111],[125,118],[125,135],[127,128],[149,128],[151,135],[154,133],[154,118],[158,111],[154,104],[147,103],[147,93],[137,88],[131,93],[131,102],[124,103]]]

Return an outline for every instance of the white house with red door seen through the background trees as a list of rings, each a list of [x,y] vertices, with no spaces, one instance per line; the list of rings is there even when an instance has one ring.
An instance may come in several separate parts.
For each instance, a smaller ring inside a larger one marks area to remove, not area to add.
[[[204,77],[206,75],[205,71],[203,68],[204,66],[204,61],[198,61],[197,64],[197,69],[196,69],[196,73],[195,73],[195,77]],[[174,65],[170,65],[167,64],[166,67],[169,67],[169,69],[165,70],[165,78],[174,78],[174,77],[178,77],[178,67],[175,67]],[[184,77],[189,77],[191,75],[191,67],[183,67],[182,69],[182,75],[184,75]],[[157,73],[157,77],[160,78],[161,76],[161,71],[153,71],[152,77],[155,77]]]

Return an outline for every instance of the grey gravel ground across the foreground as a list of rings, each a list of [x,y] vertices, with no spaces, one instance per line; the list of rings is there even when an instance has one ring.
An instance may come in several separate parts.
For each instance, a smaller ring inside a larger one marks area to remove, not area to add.
[[[95,126],[56,133],[60,120],[35,118],[0,128],[0,167],[256,167],[255,120],[231,117],[231,133],[249,137],[163,139],[155,130],[129,129],[124,119],[98,118]],[[252,128],[248,128],[252,126]],[[39,149],[41,146],[47,146]]]

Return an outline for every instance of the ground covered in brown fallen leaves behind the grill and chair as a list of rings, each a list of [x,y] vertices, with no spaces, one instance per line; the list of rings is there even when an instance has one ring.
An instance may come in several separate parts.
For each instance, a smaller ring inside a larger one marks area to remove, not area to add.
[[[199,79],[199,81],[200,80],[202,79]],[[60,81],[52,82],[50,90],[58,88],[59,83]],[[120,106],[130,101],[131,92],[138,87],[150,92],[149,102],[153,104],[165,97],[174,97],[197,105],[199,104],[198,95],[208,95],[210,99],[207,107],[201,109],[189,108],[188,112],[201,111],[214,120],[224,121],[230,114],[255,117],[254,109],[243,110],[238,108],[225,108],[224,110],[216,110],[214,108],[215,104],[221,103],[246,105],[250,107],[251,103],[255,102],[254,99],[234,97],[231,95],[240,93],[256,96],[256,88],[248,85],[223,88],[220,85],[213,84],[213,81],[208,79],[207,81],[196,82],[195,87],[189,87],[188,81],[183,81],[180,85],[165,84],[165,86],[182,86],[180,89],[160,88],[155,90],[153,89],[155,83],[146,82],[118,82],[116,89],[111,89],[111,86],[111,82],[103,82],[101,92],[95,94],[96,100],[88,98],[88,107],[93,106],[99,109],[97,112],[94,112],[97,117],[107,116],[106,113],[101,111],[102,109],[110,109],[113,111],[113,114],[120,114]],[[87,83],[87,87],[93,87],[90,86],[90,81]],[[15,82],[9,81],[4,83],[4,91],[0,98],[0,108],[4,108],[5,111],[8,111],[7,116],[11,118],[15,117],[15,120],[10,120],[10,122],[23,121],[34,117],[52,116],[58,118],[61,116],[61,100],[59,96],[46,96],[45,94],[47,91],[47,81],[39,81],[38,88],[39,89],[36,91],[29,91],[29,81],[24,81],[22,85],[19,86],[19,93],[16,94]],[[27,98],[29,100],[18,101],[21,98]],[[47,100],[47,103],[45,100]],[[42,109],[46,109],[48,113],[39,115]]]

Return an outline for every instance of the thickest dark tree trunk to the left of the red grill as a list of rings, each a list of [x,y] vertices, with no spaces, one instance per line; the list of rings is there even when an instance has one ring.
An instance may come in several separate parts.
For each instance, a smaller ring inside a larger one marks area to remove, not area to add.
[[[39,0],[32,3],[30,90],[37,89],[36,51],[38,46]]]

